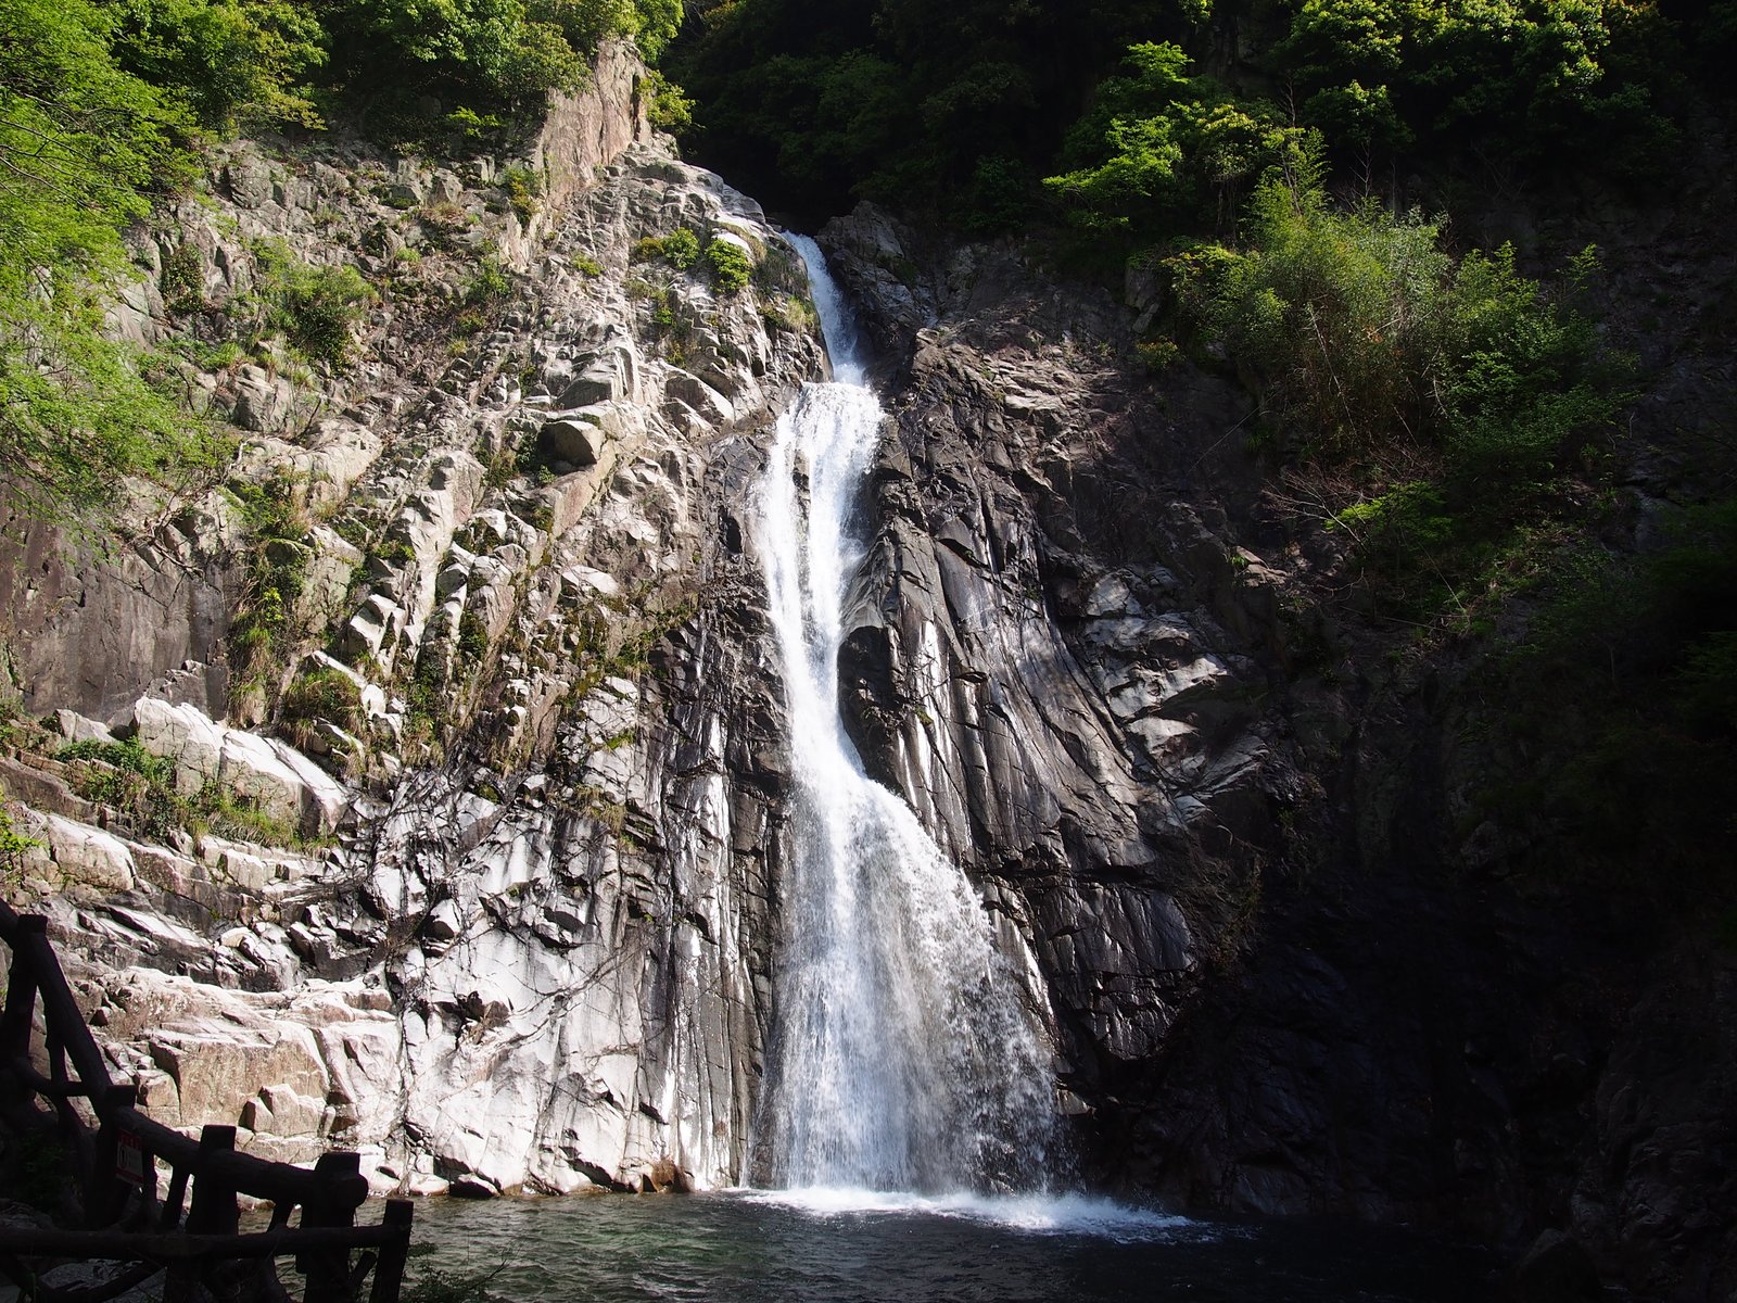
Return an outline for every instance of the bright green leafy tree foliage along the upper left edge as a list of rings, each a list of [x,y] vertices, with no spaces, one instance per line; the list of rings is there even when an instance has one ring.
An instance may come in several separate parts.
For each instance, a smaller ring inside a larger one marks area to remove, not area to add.
[[[186,111],[125,71],[118,16],[0,0],[0,455],[35,511],[108,500],[129,474],[205,467],[215,448],[102,334],[120,235],[184,174]]]

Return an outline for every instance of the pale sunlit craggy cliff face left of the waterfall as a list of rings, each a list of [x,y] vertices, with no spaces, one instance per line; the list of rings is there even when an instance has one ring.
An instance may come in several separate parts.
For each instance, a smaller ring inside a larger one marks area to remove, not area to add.
[[[170,1122],[360,1148],[380,1188],[742,1171],[782,785],[743,511],[823,360],[799,261],[650,137],[632,71],[551,118],[535,212],[504,160],[238,148],[141,248],[200,250],[203,321],[262,238],[382,288],[347,370],[193,375],[247,433],[234,492],[12,556],[16,895]],[[636,250],[679,228],[756,287]]]

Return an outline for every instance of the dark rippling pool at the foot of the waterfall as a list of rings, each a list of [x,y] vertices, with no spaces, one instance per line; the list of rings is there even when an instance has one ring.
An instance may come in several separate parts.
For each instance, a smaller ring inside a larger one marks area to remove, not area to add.
[[[512,1303],[1473,1303],[1476,1249],[1086,1197],[862,1190],[431,1200],[412,1260]]]

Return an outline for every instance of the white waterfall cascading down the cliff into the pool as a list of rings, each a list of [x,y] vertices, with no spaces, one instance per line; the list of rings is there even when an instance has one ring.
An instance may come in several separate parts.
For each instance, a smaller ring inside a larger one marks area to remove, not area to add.
[[[863,554],[849,518],[881,405],[825,259],[796,245],[835,379],[778,420],[759,490],[796,787],[759,1166],[787,1188],[1035,1188],[1054,1101],[1018,982],[971,883],[865,777],[839,716],[844,589]]]

